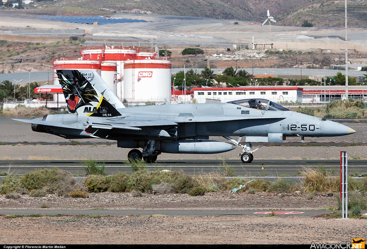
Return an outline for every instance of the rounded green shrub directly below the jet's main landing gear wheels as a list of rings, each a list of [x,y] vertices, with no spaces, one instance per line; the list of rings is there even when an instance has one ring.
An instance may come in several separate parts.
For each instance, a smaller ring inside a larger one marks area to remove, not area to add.
[[[152,185],[159,184],[161,182],[162,173],[159,171],[150,171],[148,169],[141,169],[134,171],[130,175],[127,191],[138,190],[142,193],[152,192]]]

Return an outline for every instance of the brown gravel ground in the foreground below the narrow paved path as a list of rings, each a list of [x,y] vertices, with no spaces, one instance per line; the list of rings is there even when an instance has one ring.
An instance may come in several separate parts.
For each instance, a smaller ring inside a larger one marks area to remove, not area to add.
[[[366,220],[314,217],[23,217],[1,219],[5,244],[311,244],[366,238]]]

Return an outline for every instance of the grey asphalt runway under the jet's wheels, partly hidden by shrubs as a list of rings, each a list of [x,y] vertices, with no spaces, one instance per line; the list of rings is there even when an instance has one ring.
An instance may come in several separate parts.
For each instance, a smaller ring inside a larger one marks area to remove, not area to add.
[[[24,175],[34,169],[58,167],[74,175],[84,175],[83,160],[0,160],[0,173],[13,172]],[[132,173],[132,168],[127,160],[98,161],[105,164],[105,173],[108,175],[125,172]],[[264,164],[264,169],[262,169]],[[294,176],[298,177],[303,168],[321,167],[326,171],[338,175],[339,160],[254,160],[251,164],[244,164],[240,160],[157,160],[154,164],[145,164],[150,170],[168,169],[183,171],[188,175],[207,174],[219,172],[224,166],[234,169],[233,176]],[[367,173],[367,160],[348,160],[349,174],[356,175]]]

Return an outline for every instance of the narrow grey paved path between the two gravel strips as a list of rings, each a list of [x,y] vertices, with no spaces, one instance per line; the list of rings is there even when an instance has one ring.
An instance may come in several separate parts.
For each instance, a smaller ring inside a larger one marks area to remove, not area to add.
[[[284,211],[284,210],[283,210]],[[333,213],[341,211],[332,210],[287,210],[298,211],[297,214],[282,214],[281,216],[313,216],[324,213]],[[0,209],[0,215],[168,215],[168,216],[217,216],[217,215],[264,215],[256,212],[269,212],[269,210],[178,210],[178,209]],[[361,213],[366,213],[362,211]],[[266,215],[266,214],[265,214]]]

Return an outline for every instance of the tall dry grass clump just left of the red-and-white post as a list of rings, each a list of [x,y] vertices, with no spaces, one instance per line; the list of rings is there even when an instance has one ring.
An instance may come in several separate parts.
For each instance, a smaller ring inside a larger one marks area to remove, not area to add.
[[[304,168],[301,175],[305,178],[302,180],[304,191],[307,193],[319,192],[335,192],[335,186],[338,186],[338,178],[329,176],[327,173],[316,169]]]

